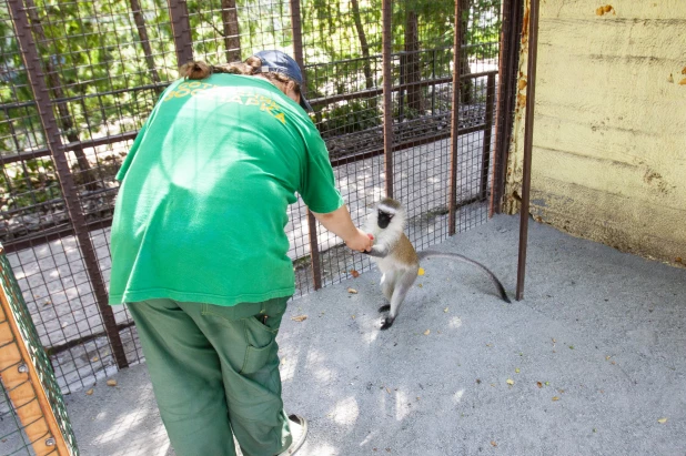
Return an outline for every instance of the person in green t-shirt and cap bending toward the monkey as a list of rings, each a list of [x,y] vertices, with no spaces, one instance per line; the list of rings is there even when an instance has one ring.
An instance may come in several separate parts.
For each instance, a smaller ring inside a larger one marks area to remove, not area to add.
[[[162,93],[117,179],[110,303],[127,303],[179,456],[293,454],[276,333],[295,291],[284,232],[299,193],[367,251],[289,55],[189,63]],[[233,433],[232,433],[233,432]],[[233,434],[233,435],[232,435]]]

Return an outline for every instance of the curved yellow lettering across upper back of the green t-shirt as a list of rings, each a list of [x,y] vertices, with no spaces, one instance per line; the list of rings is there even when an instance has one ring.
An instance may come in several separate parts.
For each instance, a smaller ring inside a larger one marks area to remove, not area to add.
[[[214,90],[208,91],[209,89]],[[174,90],[170,91],[164,97],[163,101],[184,97],[202,97],[208,100],[214,100],[216,103],[236,103],[245,107],[258,107],[260,111],[269,113],[285,125],[285,114],[281,110],[281,107],[271,98],[258,94],[251,90],[218,87],[200,81],[182,82],[176,85]]]

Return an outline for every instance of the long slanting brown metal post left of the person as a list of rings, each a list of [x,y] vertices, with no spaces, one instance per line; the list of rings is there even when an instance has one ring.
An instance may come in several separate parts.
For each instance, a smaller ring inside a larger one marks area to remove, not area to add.
[[[93,249],[93,244],[88,233],[85,217],[83,216],[83,212],[79,205],[79,193],[77,191],[77,185],[74,183],[73,175],[71,174],[71,170],[69,169],[67,154],[64,153],[62,139],[60,136],[60,129],[58,126],[52,101],[50,100],[48,92],[46,74],[41,68],[38,49],[36,47],[36,42],[33,41],[33,37],[31,36],[29,18],[27,17],[27,11],[23,8],[21,0],[9,0],[8,6],[12,17],[12,22],[14,23],[14,29],[17,31],[17,41],[27,68],[29,83],[31,85],[31,90],[33,91],[36,105],[38,107],[38,113],[43,126],[48,148],[50,149],[50,153],[54,160],[54,166],[60,178],[59,181],[62,195],[64,196],[64,204],[67,205],[69,217],[71,219],[74,232],[77,234],[79,247],[81,249],[81,254],[83,255],[85,271],[93,287],[93,294],[95,296],[95,302],[98,303],[100,315],[102,316],[102,323],[108,334],[110,345],[112,346],[112,354],[117,359],[117,365],[120,368],[124,368],[129,366],[129,362],[127,361],[127,355],[119,336],[114,313],[112,312],[112,307],[108,305],[107,287],[98,264],[98,255],[95,255],[95,250]]]

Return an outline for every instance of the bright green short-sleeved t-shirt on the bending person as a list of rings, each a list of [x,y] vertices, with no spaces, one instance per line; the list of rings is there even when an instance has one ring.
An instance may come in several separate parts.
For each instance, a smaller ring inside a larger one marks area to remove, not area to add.
[[[314,212],[343,205],[314,124],[258,77],[175,81],[117,179],[110,304],[290,296],[295,192]]]

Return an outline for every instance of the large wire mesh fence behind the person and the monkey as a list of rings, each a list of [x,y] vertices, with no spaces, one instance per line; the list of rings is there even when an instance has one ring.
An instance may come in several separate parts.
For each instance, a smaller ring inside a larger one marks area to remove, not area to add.
[[[294,55],[353,219],[392,193],[422,250],[497,211],[504,1],[0,0],[0,241],[59,386],[142,359],[107,306],[114,175],[179,63]],[[289,216],[297,295],[371,267]]]

